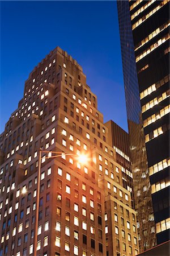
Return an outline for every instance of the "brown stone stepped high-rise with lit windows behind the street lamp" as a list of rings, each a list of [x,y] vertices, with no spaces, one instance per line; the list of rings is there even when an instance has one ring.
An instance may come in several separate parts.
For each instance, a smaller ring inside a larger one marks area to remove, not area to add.
[[[124,185],[131,167],[109,138],[82,68],[57,47],[30,73],[1,134],[0,255],[33,254],[40,148],[37,255],[139,253],[131,181]]]

